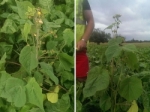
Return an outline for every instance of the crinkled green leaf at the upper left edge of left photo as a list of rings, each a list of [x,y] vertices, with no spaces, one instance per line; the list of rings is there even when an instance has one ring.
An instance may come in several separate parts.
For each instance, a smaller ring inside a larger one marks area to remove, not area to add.
[[[8,33],[8,34],[13,34],[17,31],[18,31],[18,27],[17,27],[16,23],[11,19],[6,19],[3,27],[0,30],[0,32]]]

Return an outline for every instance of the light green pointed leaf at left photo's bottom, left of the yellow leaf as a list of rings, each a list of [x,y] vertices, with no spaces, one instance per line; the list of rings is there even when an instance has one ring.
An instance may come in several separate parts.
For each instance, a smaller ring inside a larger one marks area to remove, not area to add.
[[[27,102],[38,106],[43,112],[43,94],[42,89],[35,81],[31,78],[26,85]]]

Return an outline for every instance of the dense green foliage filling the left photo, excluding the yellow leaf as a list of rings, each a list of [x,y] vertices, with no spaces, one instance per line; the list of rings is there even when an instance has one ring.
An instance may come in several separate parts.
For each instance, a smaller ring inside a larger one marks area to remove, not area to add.
[[[73,112],[74,2],[0,6],[0,111]],[[51,103],[46,95],[56,87],[58,101]]]

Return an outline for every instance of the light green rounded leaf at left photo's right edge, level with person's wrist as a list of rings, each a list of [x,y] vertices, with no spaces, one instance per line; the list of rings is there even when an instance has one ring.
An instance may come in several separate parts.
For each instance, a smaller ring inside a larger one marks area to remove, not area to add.
[[[68,46],[73,45],[73,40],[74,40],[74,34],[73,31],[71,29],[65,29],[65,31],[63,32],[63,39],[65,40],[65,43]]]

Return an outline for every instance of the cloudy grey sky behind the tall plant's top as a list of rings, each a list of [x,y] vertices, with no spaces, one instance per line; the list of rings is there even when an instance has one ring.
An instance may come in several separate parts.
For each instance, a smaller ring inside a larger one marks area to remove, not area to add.
[[[126,40],[150,40],[150,0],[88,0],[95,28],[104,30],[120,14],[118,34]],[[111,33],[110,29],[105,30]],[[112,34],[112,33],[111,33]]]

